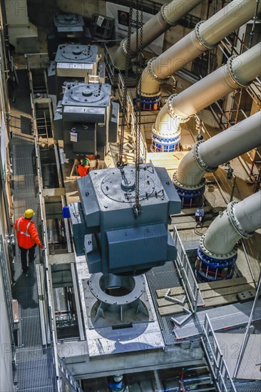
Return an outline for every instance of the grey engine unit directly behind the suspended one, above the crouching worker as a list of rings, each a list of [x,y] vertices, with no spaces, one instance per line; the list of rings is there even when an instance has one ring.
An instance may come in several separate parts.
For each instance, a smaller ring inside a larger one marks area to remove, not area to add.
[[[101,83],[66,83],[63,100],[54,115],[54,137],[63,140],[66,158],[98,153],[117,141],[118,103],[111,103],[111,86]]]

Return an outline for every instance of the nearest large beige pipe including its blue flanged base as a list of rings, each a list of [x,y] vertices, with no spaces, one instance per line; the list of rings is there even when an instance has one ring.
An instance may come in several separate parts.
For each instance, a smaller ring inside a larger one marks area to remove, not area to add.
[[[202,282],[229,279],[237,260],[237,242],[261,228],[261,191],[230,202],[200,238],[196,275]]]

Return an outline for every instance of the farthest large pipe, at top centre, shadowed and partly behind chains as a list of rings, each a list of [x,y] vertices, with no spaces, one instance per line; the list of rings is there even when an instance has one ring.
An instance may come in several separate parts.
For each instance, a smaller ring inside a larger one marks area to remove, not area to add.
[[[175,26],[178,21],[183,18],[185,14],[188,14],[195,6],[201,3],[203,0],[190,0],[180,1],[173,0],[169,4],[164,4],[158,14],[153,16],[143,26],[143,44],[145,48],[151,42],[158,38],[162,33],[170,29],[171,26]],[[140,29],[138,29],[138,37],[140,36]],[[137,53],[137,32],[131,36],[131,56],[135,56]],[[121,41],[121,45],[116,51],[114,58],[114,66],[118,69],[124,70],[126,66],[126,53],[127,53],[127,42],[126,39]]]

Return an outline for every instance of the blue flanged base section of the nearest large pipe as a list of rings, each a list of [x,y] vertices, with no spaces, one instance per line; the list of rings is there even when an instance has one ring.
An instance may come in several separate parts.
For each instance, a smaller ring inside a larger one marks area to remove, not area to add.
[[[214,280],[230,279],[234,272],[237,254],[228,259],[215,259],[205,254],[198,248],[196,262],[196,275],[201,282],[213,282]]]

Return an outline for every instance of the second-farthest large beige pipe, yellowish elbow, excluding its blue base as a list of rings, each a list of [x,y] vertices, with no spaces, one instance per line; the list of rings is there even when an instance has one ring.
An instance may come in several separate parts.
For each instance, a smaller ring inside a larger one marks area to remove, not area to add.
[[[234,0],[208,21],[200,22],[195,30],[158,58],[150,60],[143,71],[141,96],[148,98],[158,96],[160,83],[249,21],[255,15],[256,8],[255,0]],[[261,3],[258,12],[260,11]]]

